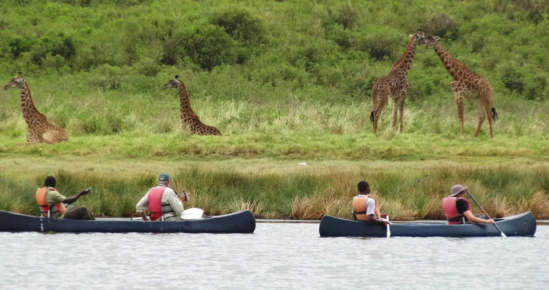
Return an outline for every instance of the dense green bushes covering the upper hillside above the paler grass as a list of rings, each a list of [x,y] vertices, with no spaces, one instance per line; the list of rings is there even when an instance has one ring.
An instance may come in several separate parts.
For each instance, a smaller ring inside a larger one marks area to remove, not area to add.
[[[5,0],[0,10],[3,74],[99,70],[87,80],[92,89],[135,86],[126,66],[149,77],[176,66],[311,98],[362,101],[408,35],[423,27],[487,76],[496,99],[549,99],[545,1]],[[418,48],[410,99],[449,91],[441,70],[432,51]],[[220,89],[212,95],[239,97]]]

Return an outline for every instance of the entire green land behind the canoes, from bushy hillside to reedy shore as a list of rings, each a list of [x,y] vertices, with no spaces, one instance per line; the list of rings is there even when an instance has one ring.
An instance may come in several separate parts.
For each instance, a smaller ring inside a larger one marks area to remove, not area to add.
[[[349,217],[366,179],[395,219],[440,218],[460,182],[491,214],[547,218],[544,2],[7,0],[0,11],[2,85],[23,71],[36,107],[69,133],[16,146],[27,131],[19,93],[0,91],[0,209],[36,214],[33,193],[55,174],[68,195],[93,186],[79,203],[96,215],[128,216],[169,169],[210,214]],[[424,47],[405,133],[390,129],[389,105],[373,135],[373,83],[419,26],[490,80],[494,140],[487,124],[472,137],[470,102],[459,136],[451,77]],[[176,92],[161,90],[176,74],[222,136],[181,129]]]

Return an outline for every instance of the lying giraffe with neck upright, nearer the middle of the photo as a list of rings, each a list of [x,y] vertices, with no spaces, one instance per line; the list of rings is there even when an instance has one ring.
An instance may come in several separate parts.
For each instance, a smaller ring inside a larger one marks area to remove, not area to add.
[[[198,133],[199,135],[221,135],[219,129],[214,126],[205,125],[200,121],[198,115],[191,109],[191,102],[189,101],[189,93],[179,76],[176,75],[174,79],[170,80],[162,88],[177,88],[179,92],[180,101],[180,114],[181,122],[184,128],[189,128],[191,133]]]

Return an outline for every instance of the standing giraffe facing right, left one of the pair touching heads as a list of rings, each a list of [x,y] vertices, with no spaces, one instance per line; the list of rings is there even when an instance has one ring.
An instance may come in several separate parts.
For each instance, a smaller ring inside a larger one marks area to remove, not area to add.
[[[389,98],[393,99],[393,128],[396,124],[397,107],[400,110],[400,126],[399,131],[403,132],[404,127],[402,125],[402,115],[404,113],[404,101],[406,100],[406,91],[408,90],[409,83],[406,80],[408,71],[412,66],[414,54],[416,53],[416,46],[420,42],[422,35],[413,34],[410,35],[410,42],[402,57],[399,61],[393,65],[391,72],[388,75],[380,77],[374,86],[372,87],[372,102],[373,108],[370,114],[370,120],[373,122],[374,133],[377,132],[378,119],[383,107],[389,101]]]

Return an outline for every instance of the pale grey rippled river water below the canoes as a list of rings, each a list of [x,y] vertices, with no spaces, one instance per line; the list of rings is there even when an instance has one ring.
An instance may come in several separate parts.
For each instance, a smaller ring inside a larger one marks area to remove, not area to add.
[[[549,289],[536,237],[320,238],[253,234],[0,233],[0,289]]]

